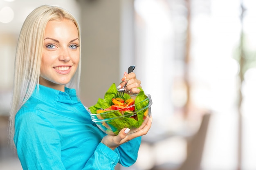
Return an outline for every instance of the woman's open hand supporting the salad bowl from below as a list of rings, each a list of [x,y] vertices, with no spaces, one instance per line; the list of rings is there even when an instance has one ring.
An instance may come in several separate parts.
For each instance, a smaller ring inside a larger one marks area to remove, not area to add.
[[[149,117],[148,121],[147,122],[144,121],[143,124],[144,124],[144,127],[142,129],[140,129],[136,132],[130,133],[130,134],[128,134],[128,132],[129,132],[128,128],[123,128],[122,130],[120,130],[120,132],[118,133],[117,136],[107,135],[107,136],[103,137],[103,139],[101,140],[101,143],[105,144],[110,149],[114,150],[119,145],[124,144],[127,141],[130,141],[139,136],[146,135],[148,133],[148,130],[151,127],[152,117]],[[143,126],[143,124],[141,126]],[[125,133],[126,130],[128,132]]]

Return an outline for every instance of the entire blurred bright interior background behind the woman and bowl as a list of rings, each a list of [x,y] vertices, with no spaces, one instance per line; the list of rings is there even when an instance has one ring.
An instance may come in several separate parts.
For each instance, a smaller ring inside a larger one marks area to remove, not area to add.
[[[43,4],[79,21],[85,106],[130,65],[152,97],[137,162],[116,169],[256,169],[255,0],[0,0],[1,170],[22,169],[7,137],[15,51],[26,16]]]

